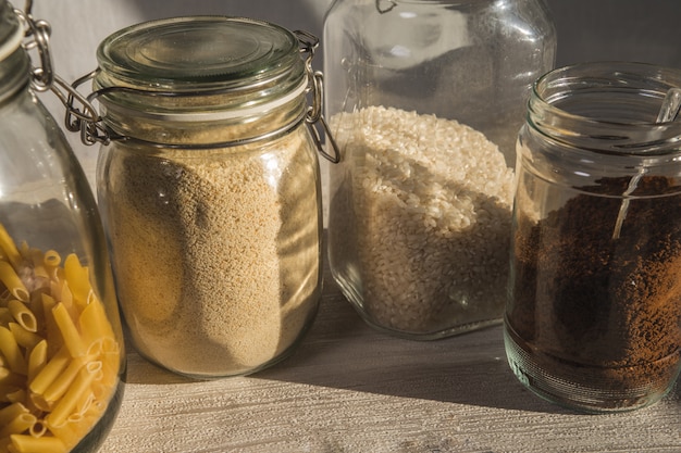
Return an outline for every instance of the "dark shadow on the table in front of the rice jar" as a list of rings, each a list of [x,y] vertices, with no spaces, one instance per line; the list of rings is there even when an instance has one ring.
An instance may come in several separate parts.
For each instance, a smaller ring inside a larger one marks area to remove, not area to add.
[[[570,413],[513,376],[500,326],[436,340],[393,338],[368,327],[339,294],[325,297],[295,354],[252,377],[326,388],[533,412]]]

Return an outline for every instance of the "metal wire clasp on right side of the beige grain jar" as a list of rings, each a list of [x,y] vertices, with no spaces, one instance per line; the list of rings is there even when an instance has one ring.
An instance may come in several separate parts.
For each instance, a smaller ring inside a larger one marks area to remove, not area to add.
[[[300,42],[300,52],[307,53],[307,58],[305,59],[305,66],[308,75],[308,92],[310,92],[312,96],[312,105],[308,108],[308,113],[305,121],[308,124],[310,131],[312,133],[312,139],[314,140],[317,150],[326,160],[334,164],[337,164],[338,162],[340,162],[340,152],[338,151],[338,146],[336,144],[333,135],[331,134],[329,124],[326,124],[326,119],[324,119],[324,115],[322,114],[322,108],[324,104],[324,75],[321,73],[321,71],[314,71],[312,68],[312,59],[314,58],[314,50],[319,46],[319,39],[308,32],[296,30],[294,32],[294,34]],[[326,137],[326,144],[330,146],[333,150],[332,154],[327,153],[324,149],[322,138],[315,127],[317,124],[322,126],[324,130],[324,136]]]

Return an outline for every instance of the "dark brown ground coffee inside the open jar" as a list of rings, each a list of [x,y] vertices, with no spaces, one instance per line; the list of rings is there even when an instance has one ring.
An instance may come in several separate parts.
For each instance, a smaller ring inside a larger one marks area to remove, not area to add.
[[[628,184],[583,188],[593,194],[538,223],[519,212],[513,236],[511,341],[534,372],[605,408],[664,393],[681,366],[681,196],[667,178],[642,178],[612,239],[621,198],[603,194]]]

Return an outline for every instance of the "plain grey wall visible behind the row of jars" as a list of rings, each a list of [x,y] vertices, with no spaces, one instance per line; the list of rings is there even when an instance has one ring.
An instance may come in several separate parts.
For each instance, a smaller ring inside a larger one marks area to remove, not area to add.
[[[558,33],[557,65],[629,60],[681,67],[681,0],[547,0]],[[14,0],[23,7],[23,0]],[[124,26],[150,18],[226,14],[262,18],[321,36],[331,0],[35,0],[34,15],[52,24],[55,67],[66,80],[95,68],[97,45]],[[323,55],[320,55],[323,56]],[[321,62],[317,66],[321,67]],[[61,118],[63,108],[42,96]],[[70,140],[88,176],[96,147]]]

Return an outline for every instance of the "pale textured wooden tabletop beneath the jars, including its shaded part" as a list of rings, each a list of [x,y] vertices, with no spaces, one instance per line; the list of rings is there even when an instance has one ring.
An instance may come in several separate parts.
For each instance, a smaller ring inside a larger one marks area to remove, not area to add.
[[[633,413],[577,414],[513,377],[502,328],[433,342],[379,334],[326,276],[295,354],[248,377],[193,381],[129,352],[101,453],[681,452],[681,385]]]

